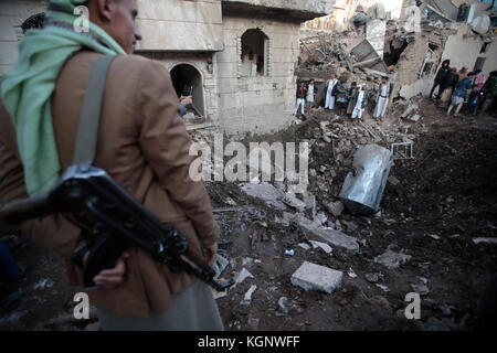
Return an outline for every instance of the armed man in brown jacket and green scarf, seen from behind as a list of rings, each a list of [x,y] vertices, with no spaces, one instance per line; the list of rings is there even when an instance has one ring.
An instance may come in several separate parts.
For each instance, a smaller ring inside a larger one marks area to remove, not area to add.
[[[89,32],[74,29],[78,6],[88,10]],[[0,160],[11,162],[0,176],[21,182],[9,191],[0,178],[0,201],[47,193],[73,163],[88,77],[103,55],[112,55],[94,163],[158,220],[173,223],[212,265],[219,228],[203,181],[190,176],[197,157],[189,154],[193,142],[171,78],[160,63],[130,55],[141,40],[137,15],[136,0],[51,0],[44,29],[27,32],[0,100]],[[87,240],[77,237],[81,231],[50,229],[46,246],[65,254],[70,282],[81,285],[82,269],[70,258]],[[88,254],[81,255],[83,266]],[[104,330],[223,330],[208,285],[136,246],[93,280],[99,289],[87,293]]]

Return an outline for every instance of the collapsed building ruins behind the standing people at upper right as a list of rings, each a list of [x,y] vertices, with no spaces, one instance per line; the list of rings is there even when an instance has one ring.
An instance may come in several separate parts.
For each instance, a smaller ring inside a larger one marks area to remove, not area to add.
[[[374,11],[359,3],[343,31],[309,30],[309,23],[319,19],[303,25],[300,62],[306,66],[310,57],[318,64],[303,78],[315,77],[326,67],[347,74],[349,84],[366,78],[378,83],[387,75],[394,83],[392,98],[410,99],[430,94],[446,58],[457,69],[479,68],[486,75],[497,69],[496,8],[491,3],[404,0],[400,18],[383,8],[381,1],[372,4]],[[319,75],[315,78],[322,82]]]

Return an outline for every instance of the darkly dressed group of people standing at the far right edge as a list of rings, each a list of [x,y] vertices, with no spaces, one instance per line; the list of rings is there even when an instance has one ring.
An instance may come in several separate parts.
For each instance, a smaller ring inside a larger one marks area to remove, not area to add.
[[[446,115],[451,115],[455,108],[454,116],[458,116],[464,104],[467,103],[468,113],[473,116],[485,113],[494,103],[497,95],[497,71],[486,77],[482,69],[468,72],[463,66],[457,72],[456,67],[451,68],[451,61],[445,60],[436,73],[430,98],[441,100],[446,89],[452,89]],[[436,95],[435,89],[438,88]]]

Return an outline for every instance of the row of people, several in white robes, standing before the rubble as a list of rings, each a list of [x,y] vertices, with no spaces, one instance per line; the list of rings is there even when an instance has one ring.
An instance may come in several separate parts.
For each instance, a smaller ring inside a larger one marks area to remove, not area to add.
[[[374,119],[381,119],[385,116],[392,88],[393,85],[389,83],[389,77],[382,77],[376,97]],[[325,109],[336,110],[339,116],[348,115],[355,121],[358,121],[356,119],[362,118],[362,114],[371,96],[369,87],[366,84],[358,85],[356,82],[352,82],[350,88],[348,88],[346,79],[339,79],[332,73],[330,79],[325,84]],[[297,87],[297,105],[294,115],[297,115],[299,107],[302,115],[305,115],[304,107],[307,107],[307,113],[309,113],[317,92],[318,89],[315,86],[314,79],[307,86],[304,82],[300,82]]]

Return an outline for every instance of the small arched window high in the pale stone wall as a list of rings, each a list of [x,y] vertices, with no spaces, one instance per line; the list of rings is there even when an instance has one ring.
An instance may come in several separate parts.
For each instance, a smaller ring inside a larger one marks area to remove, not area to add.
[[[242,35],[241,75],[256,77],[267,75],[268,38],[258,29],[247,30]]]

